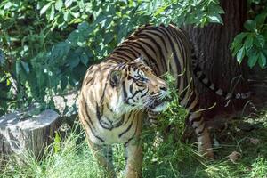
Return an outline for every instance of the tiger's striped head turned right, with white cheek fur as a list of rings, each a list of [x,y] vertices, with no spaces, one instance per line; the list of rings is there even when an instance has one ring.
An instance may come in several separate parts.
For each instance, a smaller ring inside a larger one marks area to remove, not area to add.
[[[109,84],[114,92],[111,107],[115,110],[159,112],[166,108],[166,82],[153,73],[142,56],[112,69]]]

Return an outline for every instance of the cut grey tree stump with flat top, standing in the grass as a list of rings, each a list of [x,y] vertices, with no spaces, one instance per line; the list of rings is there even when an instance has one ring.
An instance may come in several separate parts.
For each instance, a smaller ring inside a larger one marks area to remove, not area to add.
[[[20,155],[25,151],[41,158],[44,148],[53,141],[59,115],[51,109],[37,115],[35,112],[36,107],[31,107],[0,117],[0,166],[1,159],[7,155]]]

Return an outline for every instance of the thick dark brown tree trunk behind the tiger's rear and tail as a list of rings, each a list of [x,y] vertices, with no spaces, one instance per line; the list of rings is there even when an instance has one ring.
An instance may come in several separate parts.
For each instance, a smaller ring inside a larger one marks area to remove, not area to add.
[[[232,93],[248,91],[247,80],[244,80],[243,76],[244,68],[239,66],[230,51],[234,36],[239,34],[246,20],[246,4],[247,2],[243,0],[222,0],[221,5],[225,12],[222,16],[223,25],[210,24],[205,28],[186,27],[190,40],[197,48],[198,62],[206,77],[224,91]],[[229,106],[224,107],[226,101],[223,97],[211,92],[198,80],[196,80],[196,85],[200,93],[202,109],[211,107],[216,102],[216,106],[204,114],[207,118],[224,114],[224,112],[231,113],[244,106],[244,101],[231,100]]]

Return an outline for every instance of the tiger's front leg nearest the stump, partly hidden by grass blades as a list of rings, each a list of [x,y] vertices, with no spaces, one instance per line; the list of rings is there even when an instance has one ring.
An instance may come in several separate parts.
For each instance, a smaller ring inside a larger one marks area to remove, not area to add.
[[[102,166],[106,171],[107,178],[116,178],[116,173],[114,171],[114,167],[112,164],[112,148],[108,146],[105,148],[104,146],[94,144],[90,140],[88,140],[88,145],[90,149],[93,151],[93,156],[96,158],[98,164]],[[105,152],[105,154],[103,154]],[[106,157],[105,157],[105,156]]]

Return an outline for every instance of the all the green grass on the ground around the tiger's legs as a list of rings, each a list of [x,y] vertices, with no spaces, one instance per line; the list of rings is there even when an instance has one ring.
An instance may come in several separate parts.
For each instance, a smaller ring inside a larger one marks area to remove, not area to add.
[[[239,129],[242,123],[250,123],[254,127],[246,132]],[[267,122],[266,116],[256,119],[231,121],[223,132],[214,133],[220,142],[215,150],[216,160],[207,161],[198,156],[192,143],[172,142],[168,137],[166,142],[153,146],[152,132],[146,130],[143,134],[144,158],[142,175],[154,177],[267,177]],[[258,139],[258,143],[250,140]],[[238,151],[241,157],[235,162],[228,155]],[[124,154],[120,145],[114,146],[114,165],[118,177],[124,174]],[[72,131],[66,139],[53,144],[45,151],[41,160],[36,160],[31,154],[20,156],[23,164],[16,158],[10,158],[0,177],[104,177],[89,150],[84,133]]]

